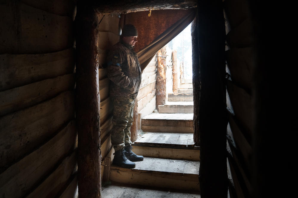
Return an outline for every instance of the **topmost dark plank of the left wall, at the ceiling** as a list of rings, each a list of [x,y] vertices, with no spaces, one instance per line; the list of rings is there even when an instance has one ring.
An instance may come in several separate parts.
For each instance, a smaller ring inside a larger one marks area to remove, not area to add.
[[[21,2],[60,16],[72,17],[75,11],[75,2],[73,0],[21,0]]]

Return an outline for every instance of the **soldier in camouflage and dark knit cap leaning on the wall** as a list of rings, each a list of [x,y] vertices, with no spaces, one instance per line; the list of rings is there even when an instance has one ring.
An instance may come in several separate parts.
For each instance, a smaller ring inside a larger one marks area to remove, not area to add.
[[[143,161],[143,156],[136,155],[131,149],[130,128],[134,121],[134,101],[141,84],[141,67],[133,50],[137,42],[136,27],[126,24],[120,41],[108,54],[108,78],[110,78],[110,95],[113,101],[113,129],[111,143],[114,147],[113,164],[125,168],[134,168],[134,161]]]

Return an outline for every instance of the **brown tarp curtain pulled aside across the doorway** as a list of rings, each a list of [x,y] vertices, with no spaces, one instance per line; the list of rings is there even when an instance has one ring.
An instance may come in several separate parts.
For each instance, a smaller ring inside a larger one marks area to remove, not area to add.
[[[133,24],[138,29],[135,51],[142,71],[157,51],[182,32],[195,18],[195,9],[153,10],[150,17],[148,13],[129,13],[124,19],[125,24]]]

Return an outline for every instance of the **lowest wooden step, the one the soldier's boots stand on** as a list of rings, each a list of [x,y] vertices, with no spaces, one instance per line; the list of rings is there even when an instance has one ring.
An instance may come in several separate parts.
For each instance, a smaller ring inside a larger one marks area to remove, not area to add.
[[[148,158],[136,162],[134,169],[111,166],[110,180],[185,191],[199,191],[199,161]]]

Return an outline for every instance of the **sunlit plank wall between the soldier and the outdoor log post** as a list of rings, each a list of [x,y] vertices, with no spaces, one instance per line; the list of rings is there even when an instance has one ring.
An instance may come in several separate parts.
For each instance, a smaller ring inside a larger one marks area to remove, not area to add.
[[[146,116],[156,107],[156,55],[142,72],[142,82],[138,93],[138,113]]]

